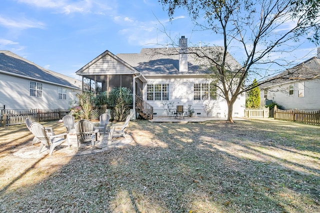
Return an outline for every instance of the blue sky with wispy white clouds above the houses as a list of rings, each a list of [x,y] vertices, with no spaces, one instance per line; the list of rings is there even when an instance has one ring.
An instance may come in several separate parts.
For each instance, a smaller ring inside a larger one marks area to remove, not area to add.
[[[1,0],[0,49],[72,77],[105,50],[138,53],[171,43],[164,28],[176,42],[181,35],[189,45],[221,42],[212,32],[193,31],[182,9],[169,21],[157,0]],[[315,54],[314,44],[306,43],[288,56]]]

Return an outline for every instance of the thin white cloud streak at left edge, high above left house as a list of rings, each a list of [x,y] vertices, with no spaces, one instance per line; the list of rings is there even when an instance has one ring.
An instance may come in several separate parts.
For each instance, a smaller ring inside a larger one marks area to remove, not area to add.
[[[0,25],[7,27],[7,28],[20,28],[20,29],[27,29],[27,28],[44,28],[44,23],[40,21],[33,21],[27,18],[6,18],[0,15]]]

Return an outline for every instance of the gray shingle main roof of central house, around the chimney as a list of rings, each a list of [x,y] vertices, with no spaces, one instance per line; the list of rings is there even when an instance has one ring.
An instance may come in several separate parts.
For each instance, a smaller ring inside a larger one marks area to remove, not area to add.
[[[120,59],[139,70],[143,75],[185,75],[208,73],[208,60],[196,55],[209,55],[212,58],[220,55],[221,47],[188,47],[188,71],[179,72],[178,48],[143,48],[140,53],[117,54]],[[238,67],[238,62],[227,55],[230,69]]]

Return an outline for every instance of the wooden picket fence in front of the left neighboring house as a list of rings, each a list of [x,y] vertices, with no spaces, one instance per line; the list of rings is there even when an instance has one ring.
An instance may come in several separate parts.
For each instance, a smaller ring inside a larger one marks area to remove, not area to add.
[[[44,122],[62,119],[70,110],[67,109],[30,109],[30,110],[0,110],[0,126],[24,124],[26,118],[32,121]]]

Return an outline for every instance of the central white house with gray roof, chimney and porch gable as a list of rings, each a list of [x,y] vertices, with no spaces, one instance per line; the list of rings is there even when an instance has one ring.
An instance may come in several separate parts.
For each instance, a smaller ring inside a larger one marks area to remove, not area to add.
[[[218,54],[221,47],[187,47],[187,39],[179,39],[179,48],[143,48],[140,53],[114,55],[105,51],[76,74],[95,82],[101,91],[128,87],[134,94],[133,112],[148,119],[167,116],[163,104],[172,103],[187,111],[189,105],[193,116],[226,117],[226,101],[217,94],[208,77],[209,69],[199,54]],[[230,68],[238,66],[231,56],[227,57]],[[82,87],[83,88],[83,87]],[[96,90],[97,91],[97,90]],[[233,116],[243,116],[245,97],[239,96],[233,105]],[[207,115],[205,108],[212,109]],[[135,113],[133,113],[136,116]]]

